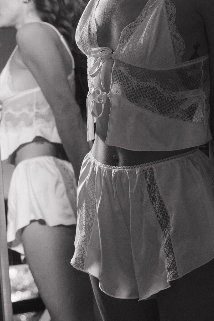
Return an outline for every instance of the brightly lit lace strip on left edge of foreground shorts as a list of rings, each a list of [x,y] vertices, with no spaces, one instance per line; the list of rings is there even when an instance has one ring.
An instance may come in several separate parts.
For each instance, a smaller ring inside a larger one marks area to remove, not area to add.
[[[94,164],[90,168],[88,180],[85,185],[85,196],[79,213],[78,229],[79,239],[77,241],[71,264],[79,269],[84,270],[87,249],[90,241],[90,235],[96,215],[96,195],[95,195],[95,175]]]

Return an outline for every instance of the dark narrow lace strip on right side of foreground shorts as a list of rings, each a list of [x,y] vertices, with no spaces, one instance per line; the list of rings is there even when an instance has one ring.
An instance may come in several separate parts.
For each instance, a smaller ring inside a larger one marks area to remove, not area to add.
[[[167,258],[167,281],[174,280],[178,278],[179,275],[177,271],[175,254],[173,251],[172,240],[170,236],[170,232],[172,230],[170,215],[158,190],[158,185],[153,169],[149,168],[145,170],[144,175],[147,181],[147,189],[150,201],[152,203],[154,212],[157,216],[158,222],[160,223],[163,233],[163,248]]]

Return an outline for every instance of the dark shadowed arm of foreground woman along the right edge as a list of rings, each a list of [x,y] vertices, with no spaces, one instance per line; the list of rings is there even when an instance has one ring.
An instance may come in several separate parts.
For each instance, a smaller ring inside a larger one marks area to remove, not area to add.
[[[204,20],[209,47],[210,129],[212,137],[214,137],[214,3],[210,0],[200,0],[200,8]],[[209,153],[211,160],[214,161],[214,139],[209,142]]]

